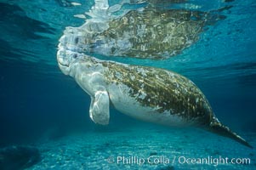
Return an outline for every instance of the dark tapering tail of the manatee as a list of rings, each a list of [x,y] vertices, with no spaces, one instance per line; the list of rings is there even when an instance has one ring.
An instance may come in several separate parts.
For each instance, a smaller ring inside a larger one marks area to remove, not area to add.
[[[253,146],[248,144],[245,139],[242,139],[241,136],[232,132],[229,127],[226,127],[216,117],[213,117],[212,122],[209,124],[209,130],[213,133],[217,133],[221,136],[228,137],[230,139],[234,139],[240,144],[246,145],[249,148],[253,149]]]

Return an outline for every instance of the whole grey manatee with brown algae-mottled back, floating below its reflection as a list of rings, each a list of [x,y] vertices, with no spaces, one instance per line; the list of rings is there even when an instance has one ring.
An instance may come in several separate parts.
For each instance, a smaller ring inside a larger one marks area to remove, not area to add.
[[[203,127],[251,147],[214,116],[208,100],[189,79],[154,67],[95,59],[76,51],[74,31],[60,38],[61,71],[91,96],[90,118],[108,124],[110,104],[137,119],[167,126]]]

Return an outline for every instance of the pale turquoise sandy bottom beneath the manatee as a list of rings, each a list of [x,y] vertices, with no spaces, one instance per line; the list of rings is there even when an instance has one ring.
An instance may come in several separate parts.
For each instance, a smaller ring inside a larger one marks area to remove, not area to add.
[[[256,148],[256,133],[241,134]],[[255,149],[198,129],[134,127],[77,133],[36,145],[42,161],[31,170],[256,169]]]

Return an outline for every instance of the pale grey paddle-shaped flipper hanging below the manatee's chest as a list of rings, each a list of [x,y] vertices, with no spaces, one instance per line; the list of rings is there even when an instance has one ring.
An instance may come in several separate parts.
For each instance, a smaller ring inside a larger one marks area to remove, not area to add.
[[[107,125],[110,119],[110,99],[106,91],[97,91],[92,97],[90,118],[95,123]]]

